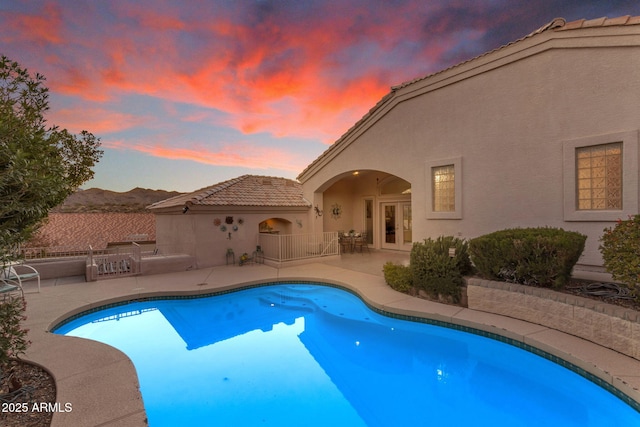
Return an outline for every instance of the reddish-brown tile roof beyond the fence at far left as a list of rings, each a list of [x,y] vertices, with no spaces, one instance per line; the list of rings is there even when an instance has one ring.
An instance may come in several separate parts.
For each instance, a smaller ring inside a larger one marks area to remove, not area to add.
[[[155,240],[152,213],[50,213],[28,246],[104,249],[109,242]]]

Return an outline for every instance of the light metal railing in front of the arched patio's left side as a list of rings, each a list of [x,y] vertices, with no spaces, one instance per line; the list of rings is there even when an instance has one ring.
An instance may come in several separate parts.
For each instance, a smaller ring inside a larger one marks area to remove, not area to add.
[[[258,244],[267,260],[285,262],[330,255],[339,255],[337,232],[315,234],[258,235]]]

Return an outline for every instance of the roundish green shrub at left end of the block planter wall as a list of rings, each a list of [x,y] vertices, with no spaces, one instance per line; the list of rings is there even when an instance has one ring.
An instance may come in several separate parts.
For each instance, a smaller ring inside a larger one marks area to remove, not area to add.
[[[425,239],[411,248],[413,285],[433,298],[450,298],[460,302],[462,276],[471,271],[468,245],[453,236]]]

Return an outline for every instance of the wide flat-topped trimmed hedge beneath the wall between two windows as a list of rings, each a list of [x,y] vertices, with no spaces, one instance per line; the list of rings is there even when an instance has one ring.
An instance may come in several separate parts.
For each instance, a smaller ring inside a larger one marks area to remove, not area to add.
[[[563,287],[571,278],[587,237],[559,228],[515,228],[469,241],[478,274],[524,285]]]

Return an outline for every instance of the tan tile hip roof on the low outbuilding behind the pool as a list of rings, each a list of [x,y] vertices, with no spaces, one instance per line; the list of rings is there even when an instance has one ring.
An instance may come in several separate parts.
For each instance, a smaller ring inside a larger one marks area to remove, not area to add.
[[[286,178],[242,175],[238,178],[182,194],[148,206],[148,209],[203,206],[310,207],[302,185]]]

